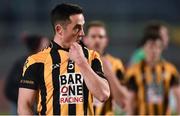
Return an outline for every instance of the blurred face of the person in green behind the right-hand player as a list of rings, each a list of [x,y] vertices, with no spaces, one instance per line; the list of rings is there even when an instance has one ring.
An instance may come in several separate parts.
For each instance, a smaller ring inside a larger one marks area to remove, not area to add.
[[[160,29],[160,35],[163,40],[163,46],[164,46],[164,48],[166,48],[169,43],[168,29],[166,27],[162,26]]]

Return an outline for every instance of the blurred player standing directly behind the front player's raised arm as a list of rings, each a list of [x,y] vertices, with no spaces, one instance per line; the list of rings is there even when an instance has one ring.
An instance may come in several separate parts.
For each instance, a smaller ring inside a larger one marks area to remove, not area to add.
[[[92,21],[87,26],[87,36],[83,39],[84,43],[88,48],[98,51],[98,53],[101,55],[101,58],[103,58],[103,61],[107,60],[110,63],[110,71],[113,72],[113,75],[108,75],[107,77],[107,71],[105,71],[106,78],[110,79],[109,84],[110,88],[116,87],[116,85],[119,87],[120,82],[123,82],[123,76],[124,76],[124,67],[120,59],[108,54],[106,52],[106,48],[108,45],[108,36],[107,36],[107,30],[105,27],[105,24],[101,21]],[[106,65],[103,63],[103,66]],[[114,84],[111,84],[112,81],[116,81]],[[113,87],[111,87],[111,85]],[[121,91],[121,87],[120,87]],[[111,93],[112,94],[112,93]],[[121,93],[115,93],[115,98],[118,98],[119,100],[123,100],[123,97],[117,97],[118,94],[121,95]],[[94,98],[94,110],[96,115],[113,115],[113,96],[106,101],[105,103],[99,102],[96,98]]]

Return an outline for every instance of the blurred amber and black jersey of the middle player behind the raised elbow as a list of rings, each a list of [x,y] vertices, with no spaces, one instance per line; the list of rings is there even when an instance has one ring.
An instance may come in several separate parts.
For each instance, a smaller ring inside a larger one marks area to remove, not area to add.
[[[123,81],[124,67],[120,59],[110,55],[105,54],[105,58],[111,63],[112,70],[120,80]],[[113,99],[110,97],[105,103],[100,103],[98,100],[94,100],[94,111],[96,115],[113,115]]]

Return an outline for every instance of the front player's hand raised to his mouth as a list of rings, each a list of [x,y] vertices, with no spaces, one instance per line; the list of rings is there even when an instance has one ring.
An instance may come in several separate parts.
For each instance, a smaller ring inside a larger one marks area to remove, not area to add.
[[[70,46],[69,58],[75,61],[77,65],[87,62],[86,58],[84,57],[82,47],[77,42],[74,42]]]

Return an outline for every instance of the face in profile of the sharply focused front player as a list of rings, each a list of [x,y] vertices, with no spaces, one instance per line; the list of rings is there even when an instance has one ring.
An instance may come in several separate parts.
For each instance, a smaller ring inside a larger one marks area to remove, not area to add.
[[[62,39],[68,46],[73,42],[78,42],[84,36],[84,23],[83,14],[70,16],[70,23],[68,23],[62,30]]]

